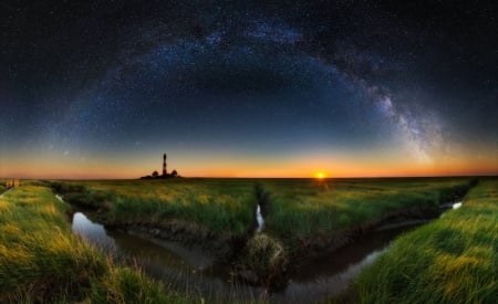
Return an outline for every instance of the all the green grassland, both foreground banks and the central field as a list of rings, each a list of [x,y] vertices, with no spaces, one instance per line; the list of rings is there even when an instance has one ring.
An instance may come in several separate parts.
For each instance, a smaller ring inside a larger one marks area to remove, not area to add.
[[[469,178],[23,181],[0,199],[0,302],[181,303],[196,297],[116,264],[75,237],[65,214],[69,206],[49,186],[70,202],[103,208],[112,221],[180,219],[232,234],[246,233],[256,205],[264,203],[264,233],[248,240],[241,264],[264,276],[258,268],[272,268],[272,260],[287,263],[286,251],[300,240],[407,208],[437,209],[471,184]],[[396,241],[345,298],[494,303],[497,189],[497,179],[481,180],[464,207]],[[267,255],[272,259],[266,261]]]

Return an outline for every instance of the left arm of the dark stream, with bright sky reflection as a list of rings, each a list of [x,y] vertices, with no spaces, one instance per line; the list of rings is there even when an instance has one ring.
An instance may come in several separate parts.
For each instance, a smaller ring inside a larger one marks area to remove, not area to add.
[[[222,302],[255,300],[262,293],[261,289],[232,282],[229,268],[216,263],[199,249],[124,232],[106,232],[102,224],[92,222],[82,212],[74,213],[72,229],[90,243],[121,259],[132,259],[147,274],[178,291],[191,293],[194,290],[204,297]]]

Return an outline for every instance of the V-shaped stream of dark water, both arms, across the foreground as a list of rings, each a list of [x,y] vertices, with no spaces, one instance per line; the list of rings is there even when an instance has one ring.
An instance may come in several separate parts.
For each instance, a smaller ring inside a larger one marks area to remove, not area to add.
[[[447,208],[458,208],[461,202]],[[261,214],[258,206],[257,214]],[[257,231],[264,221],[257,217]],[[380,227],[326,256],[312,261],[292,274],[286,290],[272,293],[269,300],[274,303],[302,303],[329,298],[344,291],[364,266],[388,249],[390,242],[428,220],[407,221]],[[149,275],[173,284],[179,291],[198,293],[214,301],[251,301],[267,298],[266,291],[232,282],[227,265],[215,262],[200,249],[186,248],[176,242],[142,238],[124,232],[106,231],[76,212],[72,221],[73,231],[104,251],[123,259],[134,259]]]

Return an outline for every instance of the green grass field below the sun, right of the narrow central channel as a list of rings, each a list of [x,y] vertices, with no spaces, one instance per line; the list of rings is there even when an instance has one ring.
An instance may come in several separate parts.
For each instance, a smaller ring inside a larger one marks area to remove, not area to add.
[[[266,231],[294,247],[336,231],[411,209],[412,217],[438,212],[464,196],[468,178],[269,180]]]

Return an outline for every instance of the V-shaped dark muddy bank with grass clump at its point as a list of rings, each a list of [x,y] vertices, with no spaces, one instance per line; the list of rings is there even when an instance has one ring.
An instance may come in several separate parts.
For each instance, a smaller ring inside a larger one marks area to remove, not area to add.
[[[263,205],[261,213],[263,210],[268,210],[268,203]],[[276,292],[286,290],[289,285],[289,277],[301,272],[310,263],[362,240],[364,235],[369,235],[373,231],[421,224],[439,217],[440,213],[439,206],[417,206],[393,211],[357,227],[301,240],[295,248],[283,248],[284,250],[278,255],[278,259],[270,256],[272,254],[269,253],[272,250],[269,249],[273,249],[273,243],[278,244],[279,240],[263,233],[268,240],[261,247],[260,241],[253,242],[261,233],[256,228],[248,229],[248,233],[243,237],[235,238],[228,233],[212,233],[198,224],[181,220],[168,220],[160,224],[116,223],[115,221],[106,222],[105,213],[97,213],[96,217],[111,230],[137,234],[148,240],[175,241],[189,248],[200,248],[206,254],[215,256],[218,262],[231,265],[235,276],[245,283],[263,286],[268,291]]]

